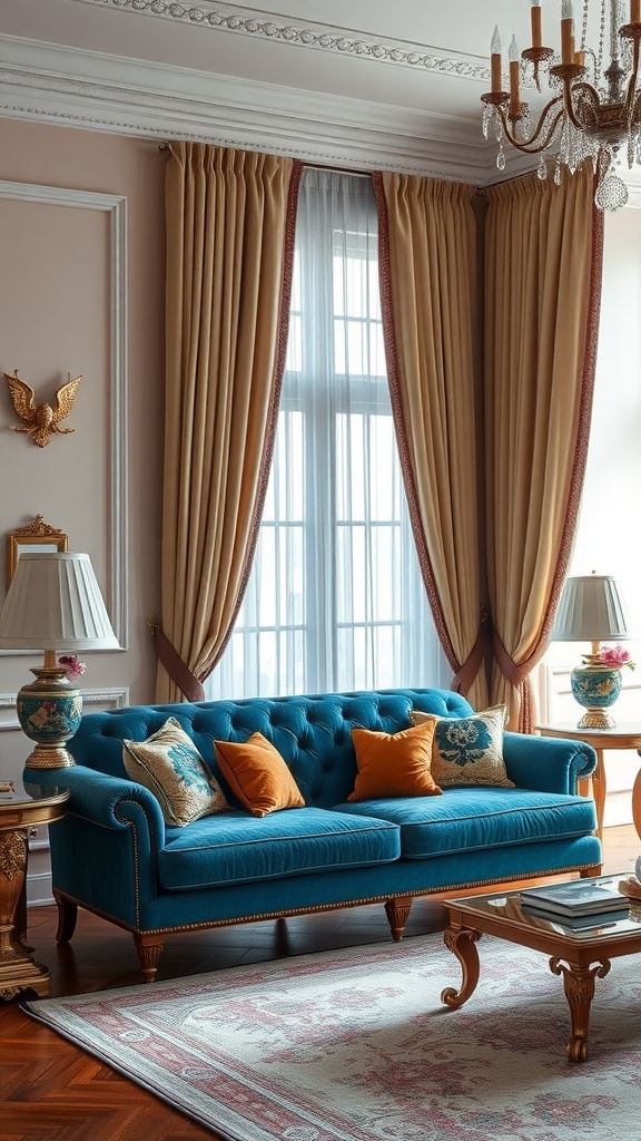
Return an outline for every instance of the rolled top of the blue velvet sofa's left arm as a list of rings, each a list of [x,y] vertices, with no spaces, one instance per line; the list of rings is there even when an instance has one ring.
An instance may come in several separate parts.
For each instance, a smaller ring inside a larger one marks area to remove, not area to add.
[[[151,847],[157,851],[164,844],[164,819],[160,804],[143,785],[135,780],[106,776],[95,769],[75,764],[68,769],[30,769],[23,774],[25,784],[68,788],[66,812],[104,828],[128,828],[146,825]]]

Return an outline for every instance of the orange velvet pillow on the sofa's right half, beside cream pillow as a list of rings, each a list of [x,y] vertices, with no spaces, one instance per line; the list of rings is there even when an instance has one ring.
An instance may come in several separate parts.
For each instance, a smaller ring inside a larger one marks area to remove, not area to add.
[[[358,774],[348,800],[374,800],[379,796],[440,796],[430,764],[433,723],[413,726],[400,733],[374,733],[352,729]]]

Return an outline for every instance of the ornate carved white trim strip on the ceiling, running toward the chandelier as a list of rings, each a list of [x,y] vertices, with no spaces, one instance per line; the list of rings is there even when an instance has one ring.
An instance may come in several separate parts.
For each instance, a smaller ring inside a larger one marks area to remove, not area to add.
[[[373,59],[378,64],[415,67],[421,71],[438,72],[439,75],[464,76],[489,83],[487,62],[476,63],[477,57],[473,56],[452,58],[417,51],[416,44],[400,40],[390,44],[382,43],[380,40],[367,40],[363,37],[355,38],[351,30],[350,34],[346,35],[344,29],[331,27],[328,24],[314,23],[305,27],[293,24],[277,24],[269,19],[268,13],[260,9],[252,9],[250,16],[241,16],[237,11],[226,11],[217,3],[205,3],[204,0],[190,5],[169,2],[169,0],[80,0],[80,2],[188,23],[205,30],[234,32],[258,39],[275,40],[278,43],[289,43],[294,47],[332,51],[341,56],[357,56],[359,59]]]

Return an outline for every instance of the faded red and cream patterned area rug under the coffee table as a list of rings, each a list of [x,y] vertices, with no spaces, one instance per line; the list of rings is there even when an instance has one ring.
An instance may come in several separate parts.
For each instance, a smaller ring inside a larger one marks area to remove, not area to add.
[[[23,1005],[233,1141],[636,1141],[638,957],[597,980],[577,1065],[546,957],[478,949],[457,1011],[440,936]]]

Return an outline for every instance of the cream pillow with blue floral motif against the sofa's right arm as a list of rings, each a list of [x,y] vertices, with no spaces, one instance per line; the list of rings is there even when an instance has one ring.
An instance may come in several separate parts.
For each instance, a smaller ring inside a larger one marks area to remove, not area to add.
[[[413,725],[422,725],[432,713],[412,710]],[[506,705],[494,705],[464,718],[437,718],[432,744],[432,777],[441,788],[461,785],[493,785],[513,788],[503,761]]]

